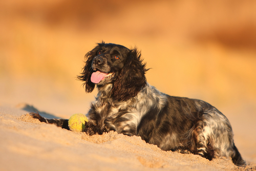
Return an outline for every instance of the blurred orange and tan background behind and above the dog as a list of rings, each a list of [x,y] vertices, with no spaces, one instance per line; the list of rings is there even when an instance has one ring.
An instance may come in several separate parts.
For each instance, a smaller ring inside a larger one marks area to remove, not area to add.
[[[140,49],[160,91],[256,118],[256,1],[1,1],[0,104],[86,114],[76,76],[102,40]]]

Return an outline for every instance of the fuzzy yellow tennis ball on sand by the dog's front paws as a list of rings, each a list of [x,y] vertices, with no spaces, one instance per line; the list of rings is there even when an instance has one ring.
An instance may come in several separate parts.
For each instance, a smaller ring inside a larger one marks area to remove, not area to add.
[[[88,119],[83,114],[74,114],[69,118],[69,129],[74,132],[84,131],[84,124],[88,122]]]

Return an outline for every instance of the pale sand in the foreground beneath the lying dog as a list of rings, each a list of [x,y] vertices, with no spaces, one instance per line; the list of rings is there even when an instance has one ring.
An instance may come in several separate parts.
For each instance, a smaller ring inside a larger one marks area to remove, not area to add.
[[[0,106],[1,170],[256,169],[255,162],[238,167],[230,159],[209,161],[198,155],[162,151],[137,136],[116,132],[88,136],[68,131],[31,118],[24,105],[25,110],[19,108]]]

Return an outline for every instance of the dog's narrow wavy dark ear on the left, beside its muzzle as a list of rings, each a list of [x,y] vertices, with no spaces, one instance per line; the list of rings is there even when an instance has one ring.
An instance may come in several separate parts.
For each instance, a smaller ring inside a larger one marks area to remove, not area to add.
[[[84,58],[86,59],[86,65],[83,67],[81,75],[77,76],[77,78],[81,81],[84,81],[83,87],[85,87],[87,93],[91,93],[95,87],[95,84],[91,81],[91,75],[93,73],[92,69],[92,61],[93,58],[97,55],[97,52],[100,50],[102,46],[104,46],[104,42],[98,44],[93,50],[88,52]]]

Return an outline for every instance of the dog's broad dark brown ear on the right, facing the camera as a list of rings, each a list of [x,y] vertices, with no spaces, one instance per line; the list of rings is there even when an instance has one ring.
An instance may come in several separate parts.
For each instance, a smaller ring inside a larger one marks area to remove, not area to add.
[[[127,60],[112,88],[114,99],[125,101],[135,97],[146,86],[145,69],[141,54],[137,49],[130,50]]]

